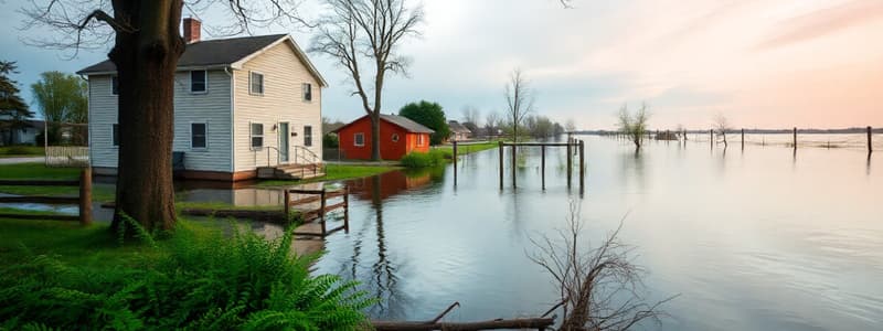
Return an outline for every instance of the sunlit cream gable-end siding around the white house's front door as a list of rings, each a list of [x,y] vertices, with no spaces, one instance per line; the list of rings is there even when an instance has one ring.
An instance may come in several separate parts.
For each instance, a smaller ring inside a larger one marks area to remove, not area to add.
[[[260,96],[249,94],[248,75],[251,71],[264,74],[264,94]],[[253,150],[251,148],[251,122],[264,125],[264,146],[275,148],[278,148],[279,145],[279,131],[273,129],[274,125],[283,121],[289,122],[290,131],[297,134],[289,140],[291,162],[296,161],[294,160],[294,146],[304,146],[304,126],[312,126],[312,146],[309,149],[321,160],[321,87],[316,77],[297,57],[290,44],[280,43],[246,62],[242,70],[234,72],[234,79],[235,171],[248,171],[268,164],[267,149]],[[302,98],[304,83],[312,84],[311,102],[305,102]],[[269,164],[275,166],[276,150],[269,150]]]

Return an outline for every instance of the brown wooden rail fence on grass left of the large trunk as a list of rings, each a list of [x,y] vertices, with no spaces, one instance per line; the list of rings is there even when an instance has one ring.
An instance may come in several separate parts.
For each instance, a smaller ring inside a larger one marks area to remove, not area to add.
[[[76,216],[0,213],[0,218],[79,221],[83,225],[92,223],[92,169],[89,168],[83,169],[79,180],[0,180],[0,185],[79,186],[78,196],[0,196],[0,203],[78,204],[79,214]]]

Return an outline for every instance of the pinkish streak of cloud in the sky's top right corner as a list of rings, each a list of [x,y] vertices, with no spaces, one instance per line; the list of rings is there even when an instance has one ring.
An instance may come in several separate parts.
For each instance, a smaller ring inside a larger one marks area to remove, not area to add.
[[[787,46],[883,19],[883,1],[853,0],[783,21],[776,33],[757,45],[760,50]]]

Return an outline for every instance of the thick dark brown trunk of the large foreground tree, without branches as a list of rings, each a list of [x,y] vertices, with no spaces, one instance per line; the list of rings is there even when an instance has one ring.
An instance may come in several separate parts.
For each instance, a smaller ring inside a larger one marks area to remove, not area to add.
[[[172,229],[172,121],[174,71],[184,50],[179,33],[181,0],[114,1],[120,32],[109,57],[119,81],[119,164],[111,229],[126,223],[121,214],[146,229]]]

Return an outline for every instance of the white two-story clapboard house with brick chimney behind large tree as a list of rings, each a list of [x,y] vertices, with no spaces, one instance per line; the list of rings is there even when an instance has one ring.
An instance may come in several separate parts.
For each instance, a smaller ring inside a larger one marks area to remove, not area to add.
[[[238,181],[262,167],[321,162],[328,84],[290,35],[200,41],[200,22],[184,19],[184,40],[174,85],[177,175]],[[89,84],[92,167],[115,174],[116,68],[105,61],[78,74]]]

